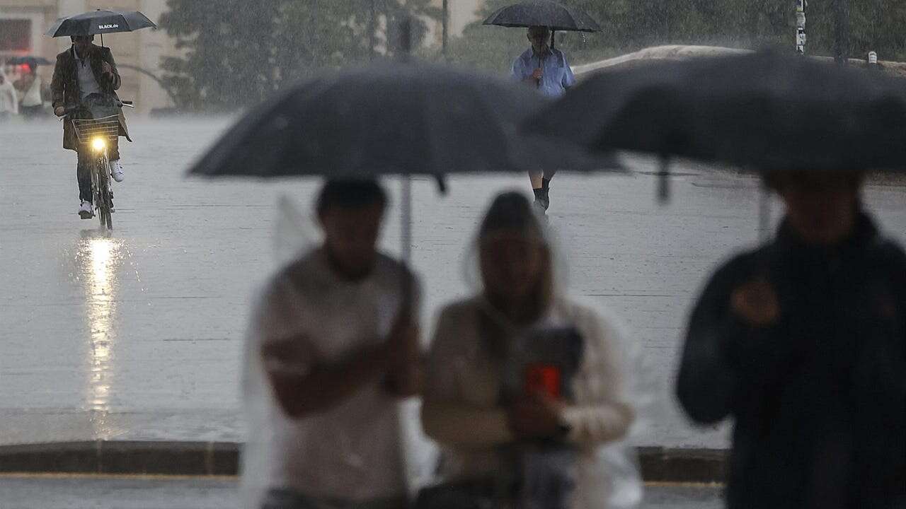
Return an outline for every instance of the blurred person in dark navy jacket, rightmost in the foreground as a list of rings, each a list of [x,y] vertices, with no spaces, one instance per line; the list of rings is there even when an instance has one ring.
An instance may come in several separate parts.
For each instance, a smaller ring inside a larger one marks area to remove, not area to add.
[[[862,206],[859,173],[773,173],[772,242],[711,278],[677,393],[732,416],[730,509],[906,507],[906,255]]]

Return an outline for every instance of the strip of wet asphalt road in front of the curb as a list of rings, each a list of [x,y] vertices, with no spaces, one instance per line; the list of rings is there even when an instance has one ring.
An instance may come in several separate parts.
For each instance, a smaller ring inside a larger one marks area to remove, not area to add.
[[[0,477],[4,509],[232,509],[227,479]],[[640,509],[718,509],[720,488],[650,485]]]

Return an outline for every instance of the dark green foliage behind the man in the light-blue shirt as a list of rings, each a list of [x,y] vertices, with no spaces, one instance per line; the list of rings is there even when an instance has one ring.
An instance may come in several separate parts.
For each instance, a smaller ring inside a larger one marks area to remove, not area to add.
[[[661,44],[708,44],[735,48],[777,46],[794,50],[795,0],[559,0],[602,25],[599,34],[559,34],[557,45],[573,63],[601,60]],[[488,0],[482,19],[515,0]],[[848,0],[847,54],[869,51],[883,60],[906,60],[906,0]],[[834,0],[812,0],[806,8],[806,52],[833,55]],[[450,60],[505,69],[528,47],[525,31],[467,27],[450,43]],[[503,54],[501,54],[503,53]]]

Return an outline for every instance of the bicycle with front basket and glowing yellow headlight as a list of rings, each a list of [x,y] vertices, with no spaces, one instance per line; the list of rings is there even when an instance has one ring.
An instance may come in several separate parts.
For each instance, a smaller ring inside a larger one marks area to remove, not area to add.
[[[112,101],[112,105],[120,109],[123,106],[134,108],[132,101]],[[109,105],[103,105],[109,106]],[[87,151],[91,157],[80,160],[91,160],[92,174],[92,207],[96,210],[95,216],[101,220],[101,228],[113,229],[113,192],[111,191],[111,167],[107,148],[111,143],[116,143],[120,136],[120,117],[105,115],[99,118],[81,119],[74,118],[76,112],[87,112],[93,117],[97,108],[72,107],[66,110],[66,120],[72,122],[76,139],[79,142],[79,152],[82,155]],[[106,110],[110,112],[110,110]]]

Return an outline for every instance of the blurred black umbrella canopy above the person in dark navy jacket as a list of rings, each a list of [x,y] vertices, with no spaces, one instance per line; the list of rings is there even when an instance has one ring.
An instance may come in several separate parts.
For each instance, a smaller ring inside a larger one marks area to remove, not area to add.
[[[777,53],[603,72],[525,122],[586,148],[759,170],[906,166],[906,89],[881,73]]]

